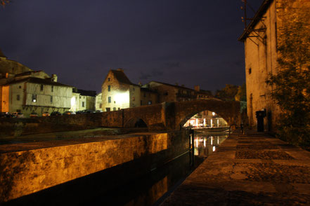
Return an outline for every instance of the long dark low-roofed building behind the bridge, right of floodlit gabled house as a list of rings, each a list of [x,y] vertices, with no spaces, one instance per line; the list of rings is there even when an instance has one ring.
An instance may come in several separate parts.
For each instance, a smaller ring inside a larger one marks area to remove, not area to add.
[[[161,83],[158,81],[150,81],[143,85],[158,94],[158,102],[181,102],[196,99],[195,90],[186,88],[183,85],[172,85],[169,83]]]

